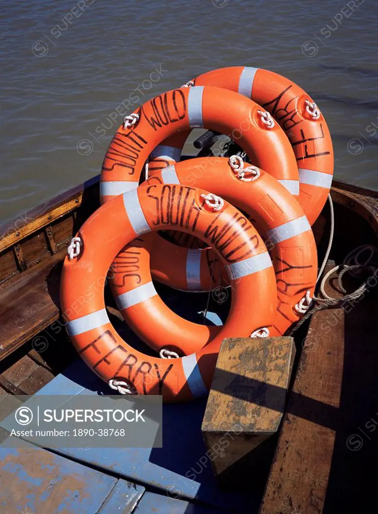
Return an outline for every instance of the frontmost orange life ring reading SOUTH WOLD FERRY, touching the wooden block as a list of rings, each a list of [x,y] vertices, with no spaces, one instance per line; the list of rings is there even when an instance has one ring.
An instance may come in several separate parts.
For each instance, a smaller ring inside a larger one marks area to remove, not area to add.
[[[249,293],[238,295],[232,298],[232,310],[243,311],[251,326],[271,325],[275,317],[276,285],[265,245],[251,225],[236,222],[240,213],[234,207],[224,203],[219,212],[213,212],[204,204],[202,195],[206,192],[174,187],[182,194],[177,196],[177,202],[171,196],[166,208],[163,198],[167,187],[151,184],[117,196],[87,219],[74,239],[75,251],[69,248],[69,258],[63,265],[61,305],[71,340],[83,360],[103,380],[109,383],[123,380],[136,393],[162,394],[165,401],[185,401],[208,392],[221,341],[212,341],[199,352],[169,360],[134,350],[110,323],[103,291],[93,292],[94,281],[98,283],[99,277],[106,277],[114,255],[134,238],[164,229],[165,216],[171,219],[183,216],[180,228],[191,233],[193,229],[209,233],[214,223],[222,223],[236,229],[240,248],[234,248],[232,256],[229,246],[219,248],[218,254],[229,263],[233,279],[239,277],[245,282],[245,292],[254,291],[254,304]],[[210,242],[210,236],[207,239]],[[239,262],[237,254],[241,256],[245,249],[248,256]],[[78,298],[85,300],[89,290],[94,298],[81,302],[82,309],[74,311],[72,305]],[[245,322],[243,325],[236,327],[234,337],[245,336]]]

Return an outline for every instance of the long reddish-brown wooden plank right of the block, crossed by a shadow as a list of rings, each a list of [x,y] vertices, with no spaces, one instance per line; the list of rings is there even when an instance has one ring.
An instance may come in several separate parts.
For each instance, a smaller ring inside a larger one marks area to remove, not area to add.
[[[329,261],[327,269],[333,265]],[[332,277],[326,291],[340,297],[331,283]],[[260,514],[323,510],[343,381],[344,316],[342,308],[319,311],[302,341]]]

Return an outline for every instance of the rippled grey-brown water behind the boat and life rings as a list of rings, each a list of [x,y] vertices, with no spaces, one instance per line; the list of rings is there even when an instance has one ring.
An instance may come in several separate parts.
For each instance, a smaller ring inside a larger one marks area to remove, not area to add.
[[[1,6],[1,222],[98,174],[122,102],[131,111],[233,65],[271,69],[308,91],[331,130],[336,177],[378,189],[376,0]]]

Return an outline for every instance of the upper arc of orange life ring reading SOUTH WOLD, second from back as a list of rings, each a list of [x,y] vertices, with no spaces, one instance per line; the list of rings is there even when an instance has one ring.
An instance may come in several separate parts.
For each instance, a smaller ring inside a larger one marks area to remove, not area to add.
[[[138,187],[143,164],[156,146],[194,127],[233,135],[257,166],[283,179],[298,180],[290,142],[269,116],[254,101],[219,87],[174,89],[152,98],[125,118],[107,149],[101,202]]]

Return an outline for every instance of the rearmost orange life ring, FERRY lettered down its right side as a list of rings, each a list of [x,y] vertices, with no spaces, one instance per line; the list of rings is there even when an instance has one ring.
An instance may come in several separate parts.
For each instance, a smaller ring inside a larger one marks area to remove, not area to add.
[[[331,135],[312,98],[291,80],[249,66],[208,71],[190,83],[196,87],[217,86],[236,91],[257,102],[280,124],[295,153],[299,184],[295,179],[282,180],[279,168],[271,171],[254,160],[251,162],[280,180],[292,194],[299,193],[299,203],[312,225],[326,203],[334,166]],[[163,141],[152,157],[168,155],[178,161],[187,136],[185,132]]]

